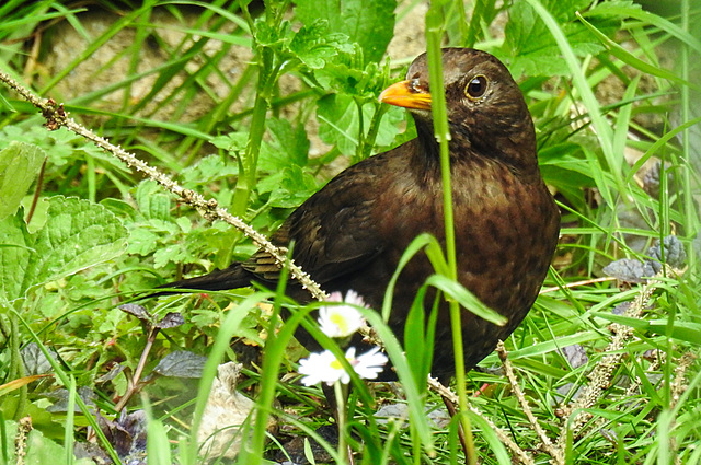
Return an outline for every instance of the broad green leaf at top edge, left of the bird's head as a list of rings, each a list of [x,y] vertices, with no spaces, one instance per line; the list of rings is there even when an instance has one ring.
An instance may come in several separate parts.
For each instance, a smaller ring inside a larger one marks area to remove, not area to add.
[[[363,47],[365,63],[379,61],[394,32],[394,0],[298,0],[296,16],[307,26],[319,18],[331,33],[341,33]]]

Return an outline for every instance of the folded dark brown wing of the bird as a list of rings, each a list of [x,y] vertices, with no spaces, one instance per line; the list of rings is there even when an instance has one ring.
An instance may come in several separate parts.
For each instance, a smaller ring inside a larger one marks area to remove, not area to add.
[[[310,197],[271,237],[277,246],[292,246],[295,264],[319,283],[357,270],[384,247],[371,218],[377,171],[359,168],[361,164],[346,170]],[[275,259],[262,249],[243,267],[267,281],[275,281],[279,275]]]

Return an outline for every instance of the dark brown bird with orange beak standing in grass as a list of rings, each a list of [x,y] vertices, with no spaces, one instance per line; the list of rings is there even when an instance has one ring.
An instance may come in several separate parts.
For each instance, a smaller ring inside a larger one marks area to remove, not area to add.
[[[495,326],[462,315],[464,361],[474,367],[505,339],[530,310],[558,242],[560,214],[538,168],[536,133],[528,107],[504,65],[469,48],[443,50],[450,126],[450,163],[458,280],[508,318]],[[421,233],[445,240],[443,183],[434,138],[426,55],[410,66],[406,80],[380,101],[409,108],[416,139],[371,156],[331,179],[295,210],[271,241],[289,246],[295,263],[327,291],[354,290],[380,309],[387,284],[406,246]],[[403,340],[404,322],[417,290],[434,272],[417,254],[394,290],[389,325]],[[274,287],[279,269],[265,252],[198,278],[163,288],[226,290],[252,281]],[[288,294],[310,295],[295,282]],[[426,299],[427,309],[433,299]],[[308,335],[302,344],[314,346]],[[455,374],[450,317],[438,316],[432,373]],[[391,376],[386,372],[381,377]]]

